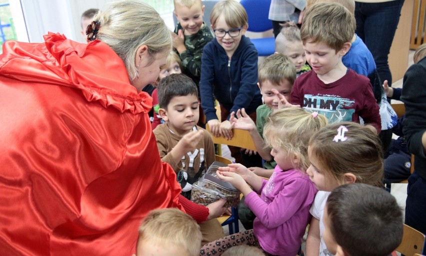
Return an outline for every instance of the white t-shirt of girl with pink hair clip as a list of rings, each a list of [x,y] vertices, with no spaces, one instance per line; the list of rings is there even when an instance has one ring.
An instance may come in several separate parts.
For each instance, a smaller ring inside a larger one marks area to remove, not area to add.
[[[334,256],[328,252],[327,247],[325,246],[324,240],[322,239],[322,232],[324,232],[324,223],[322,222],[322,216],[324,215],[325,202],[327,201],[328,195],[331,192],[318,191],[313,201],[312,206],[310,207],[309,213],[313,218],[319,220],[319,256]]]

